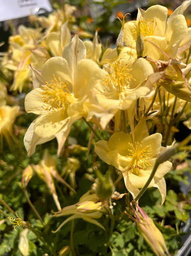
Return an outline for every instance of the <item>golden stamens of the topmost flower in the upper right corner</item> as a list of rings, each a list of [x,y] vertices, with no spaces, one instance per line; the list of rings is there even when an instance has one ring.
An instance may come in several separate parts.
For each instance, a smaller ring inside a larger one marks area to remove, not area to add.
[[[138,22],[135,22],[136,30],[133,32],[137,36],[137,30],[138,30]],[[145,22],[144,18],[140,20],[140,33],[142,33],[142,36],[153,36],[154,30],[157,26],[157,22],[154,22],[154,19],[150,20],[148,19],[147,22]]]

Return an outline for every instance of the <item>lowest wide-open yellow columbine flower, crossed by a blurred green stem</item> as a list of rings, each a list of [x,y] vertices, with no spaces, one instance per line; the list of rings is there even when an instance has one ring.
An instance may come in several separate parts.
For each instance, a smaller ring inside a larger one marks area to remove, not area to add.
[[[142,119],[132,133],[123,131],[111,135],[109,141],[100,140],[95,144],[97,155],[109,165],[119,169],[124,177],[126,188],[135,198],[147,182],[153,170],[161,147],[162,135],[148,134],[147,125]],[[171,169],[172,163],[161,163],[148,187],[159,189],[162,203],[166,196],[166,183],[163,176]]]

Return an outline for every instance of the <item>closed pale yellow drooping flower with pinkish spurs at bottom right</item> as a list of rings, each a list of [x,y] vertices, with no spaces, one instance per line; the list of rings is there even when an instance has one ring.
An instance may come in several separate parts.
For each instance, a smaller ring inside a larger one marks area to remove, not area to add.
[[[160,256],[160,255],[165,256],[165,254],[164,254],[164,250],[165,250],[167,255],[169,255],[169,252],[168,252],[168,249],[167,249],[166,244],[164,242],[164,238],[162,236],[162,233],[154,225],[153,220],[147,216],[147,214],[143,211],[142,208],[140,208],[136,204],[136,202],[135,202],[135,206],[138,208],[138,211],[139,211],[140,215],[138,214],[138,212],[135,211],[135,209],[132,206],[132,203],[130,203],[130,205],[133,209],[134,215],[135,215],[137,220],[134,217],[130,216],[127,212],[125,212],[125,213],[131,219],[133,219],[135,221],[135,223],[137,223],[137,228],[138,228],[139,232],[142,234],[145,241],[151,247],[153,252],[157,256]]]

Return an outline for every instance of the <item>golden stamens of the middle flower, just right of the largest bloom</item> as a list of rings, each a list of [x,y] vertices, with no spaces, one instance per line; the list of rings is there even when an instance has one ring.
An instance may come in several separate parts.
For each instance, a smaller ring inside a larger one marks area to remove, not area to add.
[[[111,65],[111,69],[109,69],[110,73],[103,78],[103,85],[110,87],[110,83],[113,83],[118,92],[122,92],[125,90],[125,87],[129,85],[129,81],[135,80],[129,72],[132,69],[128,69],[127,65],[120,65],[120,60],[116,60],[114,63],[109,63]]]

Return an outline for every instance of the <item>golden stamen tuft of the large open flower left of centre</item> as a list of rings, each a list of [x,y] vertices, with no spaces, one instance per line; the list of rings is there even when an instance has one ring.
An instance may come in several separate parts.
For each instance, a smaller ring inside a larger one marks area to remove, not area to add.
[[[68,82],[61,82],[61,78],[56,79],[53,74],[54,79],[51,80],[52,84],[42,85],[43,92],[43,101],[50,105],[49,110],[55,109],[61,110],[64,112],[65,106],[73,104],[75,102],[75,97],[68,90]]]

